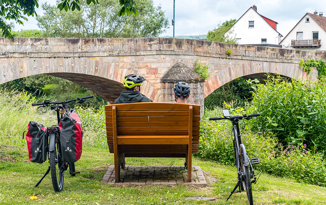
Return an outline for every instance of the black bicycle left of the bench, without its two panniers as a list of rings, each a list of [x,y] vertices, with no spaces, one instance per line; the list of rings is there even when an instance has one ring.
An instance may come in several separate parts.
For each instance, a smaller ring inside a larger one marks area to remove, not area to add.
[[[51,127],[47,128],[47,136],[46,136],[47,139],[46,141],[48,143],[47,155],[48,155],[50,166],[48,170],[45,172],[44,176],[37,182],[37,184],[34,187],[37,187],[42,182],[44,177],[48,175],[49,172],[51,171],[53,189],[55,192],[60,192],[63,189],[64,173],[68,169],[68,167],[69,167],[69,174],[71,176],[75,176],[76,174],[80,173],[75,171],[74,162],[64,162],[62,160],[59,123],[63,118],[63,114],[67,113],[67,111],[70,110],[70,106],[67,105],[67,103],[79,100],[74,105],[78,103],[81,104],[85,101],[88,101],[85,99],[92,98],[92,97],[94,97],[94,95],[77,97],[76,99],[71,99],[71,100],[61,101],[61,102],[50,102],[50,100],[45,100],[42,103],[32,103],[32,106],[40,105],[39,108],[51,106],[51,110],[55,110],[57,112],[57,119],[58,119],[58,124],[52,125]],[[60,113],[61,113],[61,117],[60,117]]]

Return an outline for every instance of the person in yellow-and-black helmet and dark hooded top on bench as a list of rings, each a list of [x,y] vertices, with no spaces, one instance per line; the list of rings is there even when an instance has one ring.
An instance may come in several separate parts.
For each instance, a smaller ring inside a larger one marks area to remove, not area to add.
[[[129,74],[125,76],[123,85],[127,91],[122,91],[119,98],[114,100],[113,104],[119,103],[135,103],[135,102],[151,102],[148,97],[141,95],[141,83],[146,79],[137,74]]]

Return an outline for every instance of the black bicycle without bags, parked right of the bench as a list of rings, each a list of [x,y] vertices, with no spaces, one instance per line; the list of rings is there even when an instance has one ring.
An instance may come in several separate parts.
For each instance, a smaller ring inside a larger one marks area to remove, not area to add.
[[[249,205],[253,205],[252,197],[252,183],[257,183],[258,179],[254,173],[254,168],[252,165],[259,163],[259,158],[251,158],[249,160],[248,154],[245,150],[244,144],[241,143],[241,134],[239,129],[239,122],[241,120],[250,120],[253,117],[259,117],[260,114],[249,114],[249,115],[232,115],[230,116],[229,110],[223,110],[223,117],[213,117],[209,120],[230,120],[232,122],[232,131],[233,131],[233,149],[234,149],[234,164],[237,168],[238,173],[238,182],[235,185],[233,191],[227,200],[230,199],[232,194],[241,193],[245,191],[248,199]],[[240,165],[240,166],[239,166]],[[253,179],[253,180],[251,180]],[[239,187],[239,190],[236,190]]]

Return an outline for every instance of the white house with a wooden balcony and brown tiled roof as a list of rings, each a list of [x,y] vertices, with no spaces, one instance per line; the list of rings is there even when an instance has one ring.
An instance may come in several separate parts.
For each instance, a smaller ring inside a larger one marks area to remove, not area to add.
[[[326,17],[306,13],[280,42],[283,48],[326,52]]]

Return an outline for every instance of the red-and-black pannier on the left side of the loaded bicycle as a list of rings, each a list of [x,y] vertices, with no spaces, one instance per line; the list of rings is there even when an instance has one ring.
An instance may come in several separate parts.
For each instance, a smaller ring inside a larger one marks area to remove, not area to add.
[[[26,141],[29,160],[40,164],[45,162],[48,153],[47,128],[43,124],[30,121],[27,127]]]

